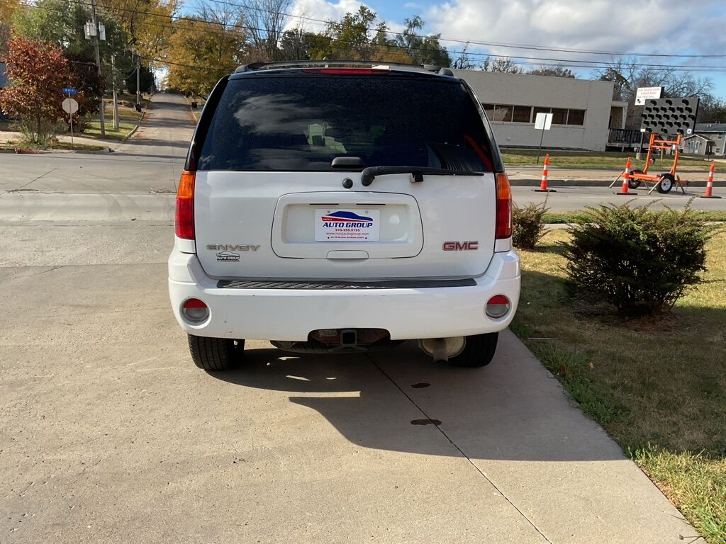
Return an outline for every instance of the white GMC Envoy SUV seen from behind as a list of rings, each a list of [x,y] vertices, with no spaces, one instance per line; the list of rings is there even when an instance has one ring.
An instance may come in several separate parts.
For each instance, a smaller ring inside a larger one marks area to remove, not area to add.
[[[510,184],[446,69],[238,68],[205,104],[175,228],[171,308],[207,371],[251,338],[306,353],[418,339],[484,366],[517,308]]]

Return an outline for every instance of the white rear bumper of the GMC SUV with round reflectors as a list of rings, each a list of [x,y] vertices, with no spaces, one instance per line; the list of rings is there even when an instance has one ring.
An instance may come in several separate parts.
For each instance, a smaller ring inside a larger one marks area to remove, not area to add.
[[[197,256],[172,252],[169,297],[184,331],[202,337],[303,342],[317,329],[386,329],[391,339],[469,336],[505,329],[517,310],[519,257],[494,253],[484,276],[471,287],[415,289],[227,289],[204,273]],[[492,319],[484,305],[495,294],[512,301],[510,313]],[[185,300],[210,309],[207,321],[181,318]]]

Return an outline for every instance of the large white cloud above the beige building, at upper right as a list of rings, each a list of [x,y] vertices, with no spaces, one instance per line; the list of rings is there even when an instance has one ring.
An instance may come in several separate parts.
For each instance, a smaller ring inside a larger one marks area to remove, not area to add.
[[[598,51],[683,53],[702,48],[703,53],[726,49],[726,38],[714,24],[714,13],[726,17],[720,0],[701,0],[698,9],[689,4],[658,0],[451,0],[431,7],[428,28],[445,38],[525,44]],[[704,25],[714,28],[703,40]],[[714,42],[720,42],[720,45]],[[449,49],[463,44],[443,42]],[[560,51],[476,46],[470,51],[495,55],[547,58],[587,58]],[[684,51],[685,50],[685,51]],[[608,60],[608,57],[590,57]],[[645,62],[667,64],[661,57]],[[690,61],[696,64],[702,61]],[[706,64],[714,64],[707,62]]]

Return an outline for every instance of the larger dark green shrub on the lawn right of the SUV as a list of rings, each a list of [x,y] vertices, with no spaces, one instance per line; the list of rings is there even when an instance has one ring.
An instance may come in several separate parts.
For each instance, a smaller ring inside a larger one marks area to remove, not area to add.
[[[626,317],[669,310],[701,282],[712,231],[690,203],[666,213],[627,204],[588,207],[563,244],[571,287]]]

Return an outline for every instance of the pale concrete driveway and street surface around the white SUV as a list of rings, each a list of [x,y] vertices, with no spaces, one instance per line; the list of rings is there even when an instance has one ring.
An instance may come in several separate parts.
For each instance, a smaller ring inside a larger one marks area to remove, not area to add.
[[[176,96],[152,107],[123,154],[12,157],[2,179],[0,543],[696,541],[509,332],[478,370],[261,341],[195,368],[150,192],[191,126]]]

